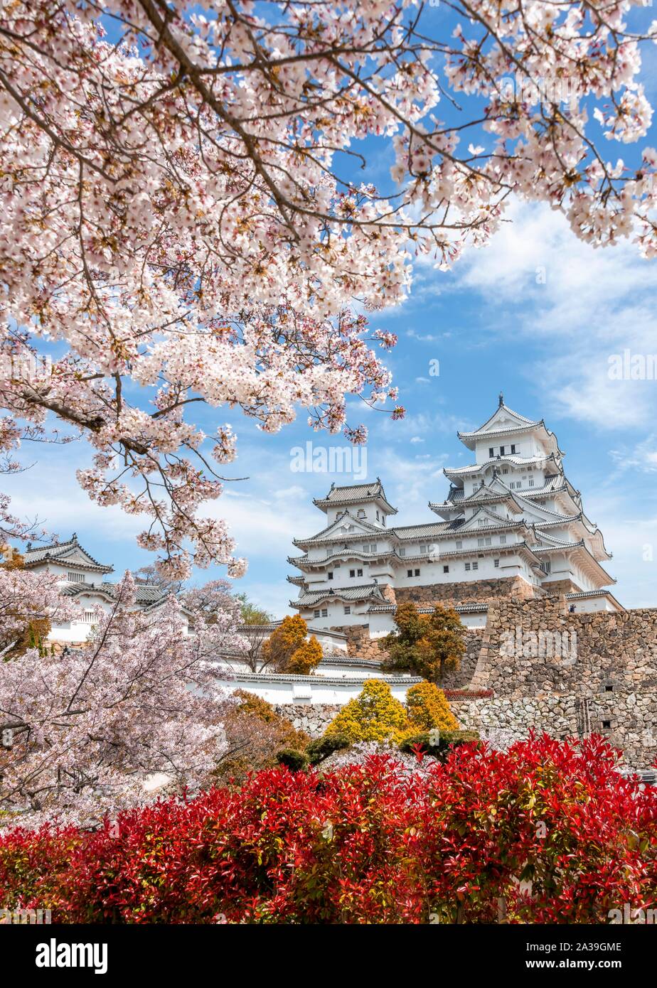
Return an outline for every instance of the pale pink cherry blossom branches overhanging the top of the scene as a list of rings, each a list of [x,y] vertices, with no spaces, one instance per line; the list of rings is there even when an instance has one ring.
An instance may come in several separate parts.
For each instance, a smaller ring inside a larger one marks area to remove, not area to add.
[[[411,0],[0,0],[0,345],[53,354],[0,372],[6,436],[79,430],[79,482],[144,517],[167,578],[242,573],[203,514],[235,437],[195,403],[364,442],[347,395],[403,414],[372,313],[414,255],[484,245],[512,194],[657,254],[654,152],[610,161],[591,124],[623,147],[650,125],[641,5],[444,0],[441,38]]]

